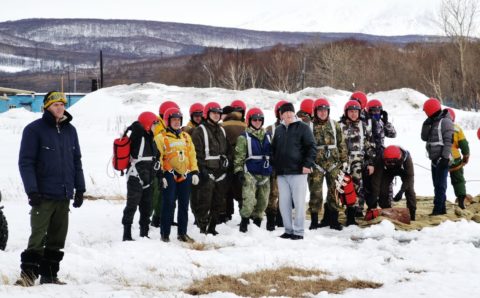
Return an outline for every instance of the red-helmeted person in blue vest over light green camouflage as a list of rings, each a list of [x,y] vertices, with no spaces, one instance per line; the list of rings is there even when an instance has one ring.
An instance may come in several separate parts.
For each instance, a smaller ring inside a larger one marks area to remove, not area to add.
[[[247,113],[247,129],[235,146],[234,172],[242,185],[243,203],[240,209],[242,221],[240,232],[247,231],[250,218],[260,227],[263,212],[267,208],[270,194],[270,144],[271,136],[262,126],[264,115],[259,108]]]

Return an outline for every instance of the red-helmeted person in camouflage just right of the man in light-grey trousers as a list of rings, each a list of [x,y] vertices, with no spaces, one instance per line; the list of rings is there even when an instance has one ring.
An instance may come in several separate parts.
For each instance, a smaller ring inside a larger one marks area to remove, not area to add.
[[[347,147],[340,125],[330,119],[330,103],[326,99],[319,98],[314,102],[314,115],[313,135],[317,143],[315,159],[317,169],[308,176],[310,230],[327,226],[330,226],[331,229],[342,230],[342,226],[338,222],[339,202],[335,181],[343,178],[343,171],[347,168]],[[324,205],[323,219],[319,225],[318,212],[322,208],[324,177],[327,180],[328,194],[327,202]]]

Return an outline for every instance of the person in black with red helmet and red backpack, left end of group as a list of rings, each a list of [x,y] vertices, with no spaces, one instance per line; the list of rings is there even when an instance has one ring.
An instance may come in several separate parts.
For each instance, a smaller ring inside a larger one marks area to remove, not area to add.
[[[153,131],[158,117],[152,112],[143,112],[130,126],[130,166],[127,170],[127,205],[123,210],[123,241],[133,241],[132,223],[137,207],[140,211],[140,237],[148,237],[152,213],[152,182],[155,176],[157,149]]]

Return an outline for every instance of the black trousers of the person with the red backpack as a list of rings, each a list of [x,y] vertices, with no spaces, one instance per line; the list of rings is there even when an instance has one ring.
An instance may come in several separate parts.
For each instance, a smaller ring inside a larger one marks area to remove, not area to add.
[[[140,226],[148,226],[152,213],[152,185],[143,189],[138,178],[131,176],[127,181],[127,205],[123,209],[122,224],[133,223],[137,206],[140,211]]]

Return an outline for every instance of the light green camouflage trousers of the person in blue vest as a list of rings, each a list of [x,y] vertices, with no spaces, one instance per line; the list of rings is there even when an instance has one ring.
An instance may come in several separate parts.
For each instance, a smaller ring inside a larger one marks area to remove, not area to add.
[[[245,182],[242,187],[242,218],[263,218],[270,194],[270,177],[245,173]]]

